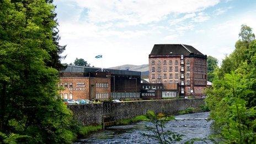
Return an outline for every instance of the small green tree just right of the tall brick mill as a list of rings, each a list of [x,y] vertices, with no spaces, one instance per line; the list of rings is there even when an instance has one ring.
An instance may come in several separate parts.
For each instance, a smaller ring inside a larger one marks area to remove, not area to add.
[[[207,56],[207,81],[214,79],[214,70],[218,67],[218,60],[215,57]]]

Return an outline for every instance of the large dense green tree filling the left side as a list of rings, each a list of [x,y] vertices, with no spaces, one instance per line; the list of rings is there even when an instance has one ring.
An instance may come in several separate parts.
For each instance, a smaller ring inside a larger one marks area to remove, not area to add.
[[[31,137],[26,143],[71,142],[71,111],[56,87],[56,54],[61,49],[53,39],[55,6],[45,0],[3,0],[0,9],[2,136]],[[0,136],[0,143],[3,138]]]

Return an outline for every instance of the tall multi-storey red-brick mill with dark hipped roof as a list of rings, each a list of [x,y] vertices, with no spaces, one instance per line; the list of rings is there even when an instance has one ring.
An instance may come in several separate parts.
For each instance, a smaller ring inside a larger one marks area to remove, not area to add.
[[[154,45],[149,55],[150,83],[164,87],[178,83],[181,96],[201,97],[207,83],[206,60],[206,55],[190,45]]]

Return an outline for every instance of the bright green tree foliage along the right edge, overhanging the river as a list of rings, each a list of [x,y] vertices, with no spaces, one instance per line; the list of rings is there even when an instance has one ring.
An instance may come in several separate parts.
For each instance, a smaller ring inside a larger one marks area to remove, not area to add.
[[[214,72],[212,88],[206,90],[216,130],[225,143],[256,141],[256,40],[242,25],[241,40]]]

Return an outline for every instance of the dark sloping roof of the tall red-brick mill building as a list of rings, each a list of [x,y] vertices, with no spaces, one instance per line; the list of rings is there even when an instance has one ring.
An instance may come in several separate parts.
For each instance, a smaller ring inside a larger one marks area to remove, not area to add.
[[[150,55],[201,55],[200,51],[193,46],[183,44],[156,44],[154,45]]]

